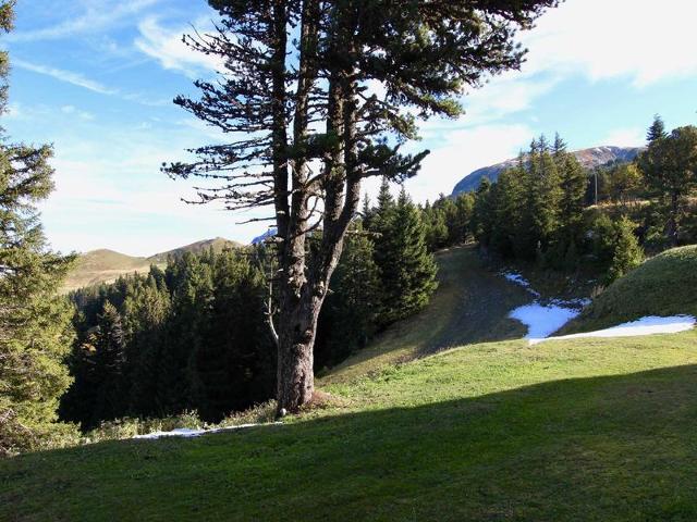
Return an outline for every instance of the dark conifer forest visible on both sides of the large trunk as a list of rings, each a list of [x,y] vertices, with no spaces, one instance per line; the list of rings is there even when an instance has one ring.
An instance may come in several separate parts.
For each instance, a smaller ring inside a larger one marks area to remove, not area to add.
[[[354,222],[320,315],[318,370],[420,310],[436,288],[426,226],[406,192],[394,200],[386,183],[368,210]],[[195,410],[217,422],[273,398],[277,355],[266,324],[272,245],[185,253],[164,270],[73,293],[74,382],[61,418],[86,430]]]

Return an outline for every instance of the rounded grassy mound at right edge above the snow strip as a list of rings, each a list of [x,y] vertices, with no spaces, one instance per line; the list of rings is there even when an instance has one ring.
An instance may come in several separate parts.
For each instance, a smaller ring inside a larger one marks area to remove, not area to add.
[[[563,333],[589,332],[646,315],[697,316],[697,246],[668,250],[610,285]]]

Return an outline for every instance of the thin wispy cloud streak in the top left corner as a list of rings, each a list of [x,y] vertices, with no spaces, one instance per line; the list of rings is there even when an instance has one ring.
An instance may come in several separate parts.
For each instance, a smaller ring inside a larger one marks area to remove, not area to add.
[[[160,0],[89,0],[83,2],[82,15],[59,24],[8,35],[9,41],[38,41],[69,38],[80,34],[100,33],[120,23],[123,18],[138,14]]]

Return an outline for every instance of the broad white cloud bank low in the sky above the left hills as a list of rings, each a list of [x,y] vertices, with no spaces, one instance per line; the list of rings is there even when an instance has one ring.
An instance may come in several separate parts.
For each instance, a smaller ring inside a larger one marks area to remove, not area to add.
[[[47,236],[62,251],[112,248],[149,256],[206,237],[250,240],[266,229],[266,223],[237,224],[264,211],[186,204],[182,197],[195,200],[193,186],[206,181],[174,182],[160,172],[162,162],[186,160],[185,149],[206,142],[201,130],[136,124],[127,133],[96,128],[93,137],[75,136],[57,137],[56,191],[40,206]]]

